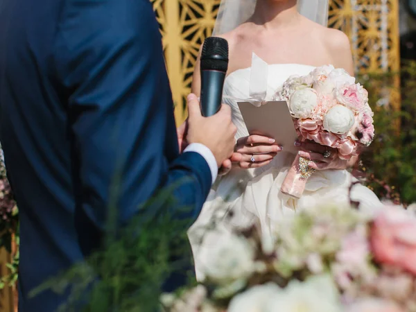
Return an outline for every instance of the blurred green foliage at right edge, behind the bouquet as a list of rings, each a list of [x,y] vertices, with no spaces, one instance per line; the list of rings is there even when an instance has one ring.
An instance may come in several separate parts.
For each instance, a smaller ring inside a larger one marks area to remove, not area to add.
[[[399,73],[361,77],[370,94],[374,110],[376,137],[361,155],[367,184],[380,198],[405,205],[416,202],[416,62],[408,62],[401,71],[401,90],[392,80]],[[401,94],[401,111],[383,94]],[[381,99],[380,99],[381,98]],[[400,127],[400,128],[399,128]]]

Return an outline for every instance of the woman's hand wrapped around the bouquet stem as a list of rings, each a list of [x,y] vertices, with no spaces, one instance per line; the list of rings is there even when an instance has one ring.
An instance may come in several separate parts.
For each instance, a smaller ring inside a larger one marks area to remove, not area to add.
[[[300,147],[299,155],[310,159],[309,167],[316,170],[340,169],[344,170],[349,167],[349,161],[340,159],[336,148],[328,148],[315,142],[299,142],[296,146]],[[327,157],[325,157],[327,156]]]

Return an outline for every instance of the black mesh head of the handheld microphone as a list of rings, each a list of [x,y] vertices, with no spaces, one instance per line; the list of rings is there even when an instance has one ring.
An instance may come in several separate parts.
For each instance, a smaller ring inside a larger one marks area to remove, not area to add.
[[[228,42],[220,37],[209,37],[202,46],[201,70],[223,71],[228,69]]]

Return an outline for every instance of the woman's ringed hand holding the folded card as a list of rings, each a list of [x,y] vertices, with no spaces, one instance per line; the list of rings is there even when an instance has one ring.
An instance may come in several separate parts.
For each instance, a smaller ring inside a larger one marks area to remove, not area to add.
[[[245,169],[259,168],[270,164],[281,150],[281,146],[275,144],[275,139],[260,135],[241,137],[234,148],[234,151],[241,155],[237,163]]]

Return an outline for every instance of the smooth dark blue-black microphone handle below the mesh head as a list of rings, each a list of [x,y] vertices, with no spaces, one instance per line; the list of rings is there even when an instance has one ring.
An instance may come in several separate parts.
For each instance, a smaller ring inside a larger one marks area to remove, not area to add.
[[[218,112],[223,101],[225,72],[201,71],[201,112],[209,117]]]

